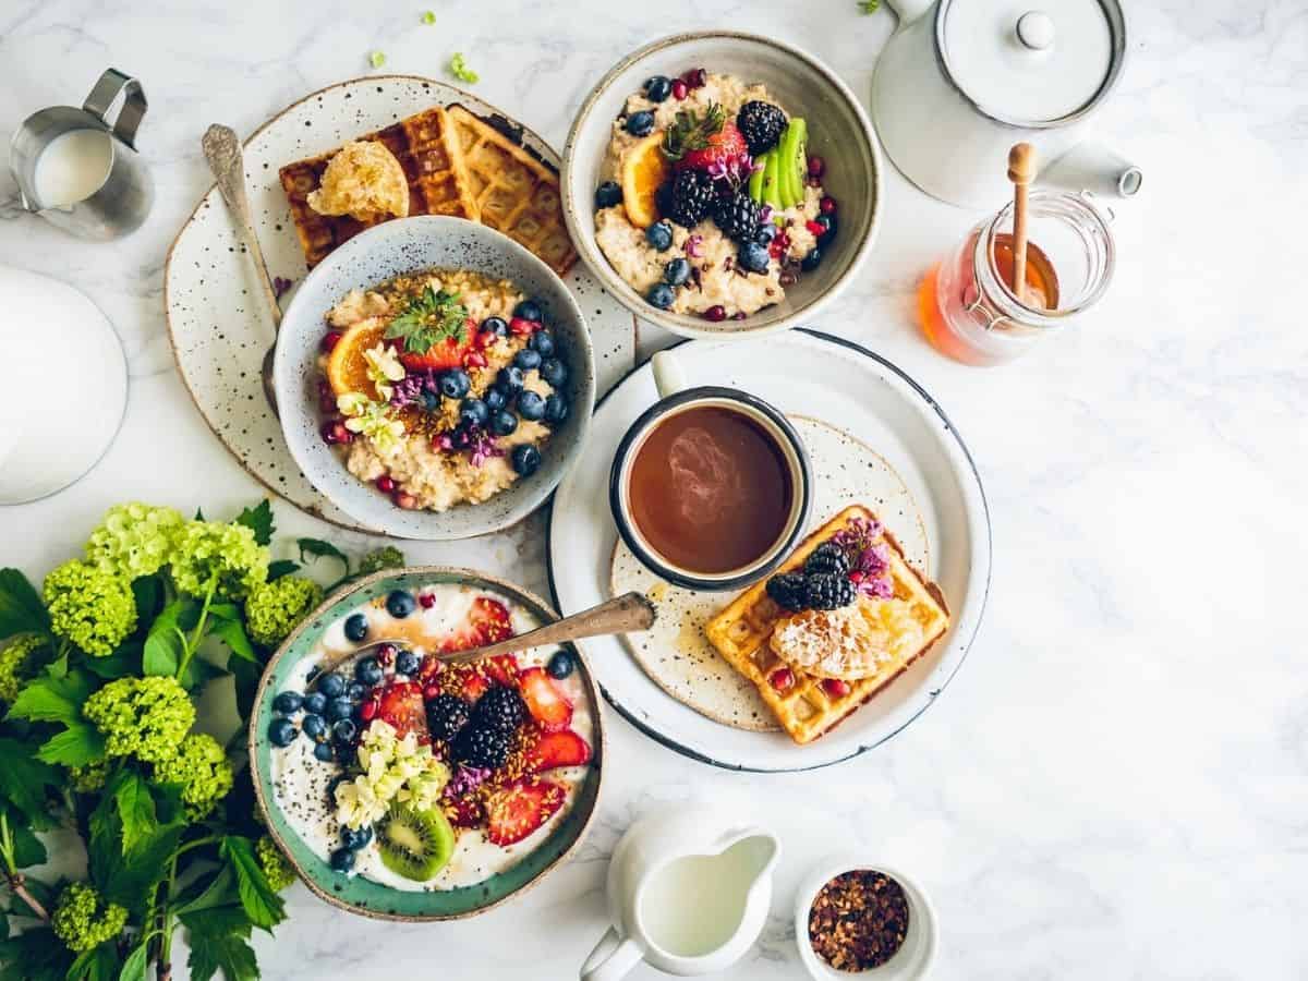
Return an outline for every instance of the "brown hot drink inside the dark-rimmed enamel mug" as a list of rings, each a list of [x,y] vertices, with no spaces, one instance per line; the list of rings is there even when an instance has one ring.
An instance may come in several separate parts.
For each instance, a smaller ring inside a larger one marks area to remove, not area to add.
[[[776,437],[749,416],[692,405],[654,424],[628,480],[632,522],[692,573],[749,565],[781,538],[794,481]]]

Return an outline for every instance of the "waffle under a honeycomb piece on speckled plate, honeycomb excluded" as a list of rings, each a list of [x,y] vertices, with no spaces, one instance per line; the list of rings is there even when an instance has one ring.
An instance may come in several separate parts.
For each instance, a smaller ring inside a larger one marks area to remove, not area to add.
[[[400,162],[408,178],[409,215],[453,215],[476,220],[476,201],[459,166],[459,148],[446,110],[437,106],[360,139],[385,144]],[[378,215],[358,221],[349,215],[319,215],[309,207],[306,199],[318,187],[335,153],[300,160],[279,171],[309,268],[364,229],[391,218],[390,215]]]

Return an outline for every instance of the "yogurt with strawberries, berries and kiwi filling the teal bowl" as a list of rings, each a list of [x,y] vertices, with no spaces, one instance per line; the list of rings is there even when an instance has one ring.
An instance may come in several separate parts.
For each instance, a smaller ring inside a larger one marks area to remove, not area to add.
[[[458,667],[434,657],[538,625],[506,596],[453,583],[379,595],[328,625],[273,696],[268,739],[276,806],[332,870],[455,889],[549,836],[595,739],[573,655],[532,649]]]

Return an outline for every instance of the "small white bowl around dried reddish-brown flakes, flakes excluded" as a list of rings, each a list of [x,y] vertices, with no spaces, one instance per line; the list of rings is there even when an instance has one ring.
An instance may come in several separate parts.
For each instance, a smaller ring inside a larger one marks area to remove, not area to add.
[[[855,869],[871,869],[882,872],[904,887],[904,896],[908,900],[908,933],[904,937],[904,946],[880,967],[858,972],[836,971],[814,952],[812,944],[808,942],[808,910],[823,886],[841,872]],[[931,965],[935,963],[935,951],[939,944],[935,908],[927,899],[926,891],[893,866],[865,854],[828,855],[814,866],[812,872],[804,876],[795,893],[795,944],[799,948],[799,960],[814,981],[852,981],[853,978],[917,981],[917,978],[930,977]]]

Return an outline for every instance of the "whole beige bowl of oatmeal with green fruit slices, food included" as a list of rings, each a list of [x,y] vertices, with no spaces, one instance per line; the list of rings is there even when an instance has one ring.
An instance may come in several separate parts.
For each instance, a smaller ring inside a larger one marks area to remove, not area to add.
[[[876,235],[882,157],[814,56],[735,31],[678,34],[615,65],[562,161],[578,251],[637,317],[691,337],[802,323]]]

